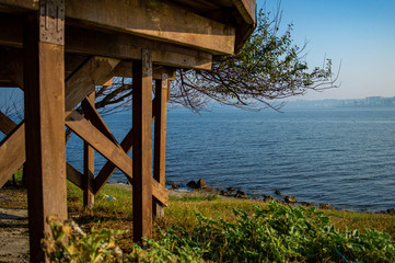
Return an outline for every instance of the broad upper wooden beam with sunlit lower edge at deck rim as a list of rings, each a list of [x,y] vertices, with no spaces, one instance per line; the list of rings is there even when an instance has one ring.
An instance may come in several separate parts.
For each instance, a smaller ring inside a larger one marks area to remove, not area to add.
[[[90,26],[191,46],[217,55],[233,54],[235,28],[160,1],[79,0],[66,2],[66,14]]]

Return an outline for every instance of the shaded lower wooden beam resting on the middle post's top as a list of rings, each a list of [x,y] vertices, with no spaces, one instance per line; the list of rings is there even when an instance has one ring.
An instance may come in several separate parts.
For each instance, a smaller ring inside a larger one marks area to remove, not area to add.
[[[150,48],[153,50],[154,64],[177,68],[211,69],[212,55],[204,50],[193,50],[127,34],[93,32],[74,26],[67,28],[70,28],[66,38],[67,53],[141,59],[141,48]]]

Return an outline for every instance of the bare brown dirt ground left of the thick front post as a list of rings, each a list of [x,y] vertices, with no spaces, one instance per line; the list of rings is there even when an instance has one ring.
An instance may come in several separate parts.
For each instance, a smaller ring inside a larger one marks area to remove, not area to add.
[[[28,261],[25,196],[24,190],[0,188],[0,263]]]

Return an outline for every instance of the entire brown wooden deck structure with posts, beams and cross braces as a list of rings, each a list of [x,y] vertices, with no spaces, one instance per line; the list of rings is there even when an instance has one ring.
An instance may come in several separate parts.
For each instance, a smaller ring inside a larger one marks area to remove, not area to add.
[[[0,0],[0,88],[24,92],[22,123],[0,108],[0,186],[24,164],[31,262],[45,261],[46,217],[68,217],[66,180],[91,206],[116,169],[132,185],[133,240],[151,237],[167,203],[171,80],[176,69],[210,70],[255,24],[255,0]],[[95,108],[95,87],[113,77],[132,78],[132,128],[120,142]],[[65,127],[84,141],[83,171],[66,162]],[[94,150],[108,160],[96,176]]]

